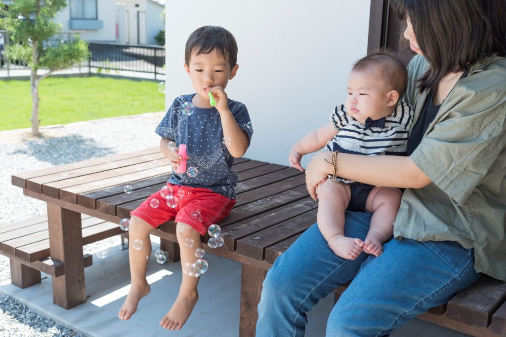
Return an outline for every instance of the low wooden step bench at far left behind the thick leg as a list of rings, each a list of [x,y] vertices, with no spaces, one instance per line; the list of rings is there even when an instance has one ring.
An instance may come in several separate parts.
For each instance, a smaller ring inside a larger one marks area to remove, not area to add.
[[[83,245],[121,234],[117,224],[81,216]],[[10,259],[11,282],[20,288],[40,283],[40,272],[50,276],[65,274],[64,265],[49,254],[48,216],[42,215],[0,226],[0,254]],[[93,264],[90,254],[83,255],[83,264]]]

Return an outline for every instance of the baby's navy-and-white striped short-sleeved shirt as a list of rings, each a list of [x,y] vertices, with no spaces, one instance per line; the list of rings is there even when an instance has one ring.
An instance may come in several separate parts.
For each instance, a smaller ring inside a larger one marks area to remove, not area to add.
[[[405,156],[413,115],[409,105],[399,102],[390,116],[375,121],[367,118],[363,124],[348,115],[344,105],[336,106],[330,122],[338,134],[327,142],[326,149],[366,156]],[[335,180],[345,184],[355,182],[341,177]]]

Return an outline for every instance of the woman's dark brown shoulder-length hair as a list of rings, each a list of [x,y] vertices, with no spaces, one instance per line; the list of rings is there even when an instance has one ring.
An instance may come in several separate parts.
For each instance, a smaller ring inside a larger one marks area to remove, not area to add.
[[[418,79],[421,91],[485,56],[506,56],[506,0],[392,0],[392,7],[399,19],[409,16],[430,64]]]

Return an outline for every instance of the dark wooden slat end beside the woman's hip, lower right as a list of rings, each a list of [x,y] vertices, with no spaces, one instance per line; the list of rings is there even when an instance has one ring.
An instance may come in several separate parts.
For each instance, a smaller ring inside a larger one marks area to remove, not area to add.
[[[486,328],[505,300],[506,282],[483,275],[448,301],[446,316],[457,322]]]

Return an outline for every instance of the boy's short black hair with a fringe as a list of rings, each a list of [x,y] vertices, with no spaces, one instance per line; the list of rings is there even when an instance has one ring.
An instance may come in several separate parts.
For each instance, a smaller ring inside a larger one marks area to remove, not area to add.
[[[190,65],[193,53],[196,55],[218,52],[233,68],[237,63],[237,43],[234,35],[220,26],[203,26],[190,34],[186,41],[185,63]]]

